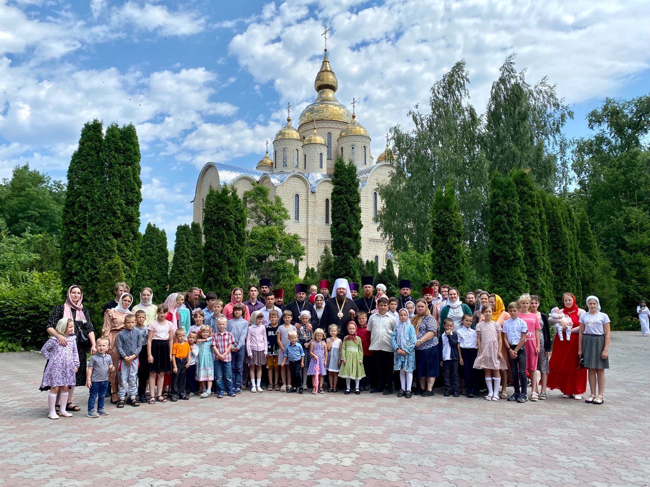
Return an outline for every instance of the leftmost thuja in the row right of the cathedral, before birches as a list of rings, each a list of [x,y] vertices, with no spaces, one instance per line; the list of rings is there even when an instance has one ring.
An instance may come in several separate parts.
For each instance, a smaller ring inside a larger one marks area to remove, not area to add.
[[[467,284],[467,253],[463,219],[451,184],[435,191],[431,206],[431,271],[435,279],[459,289]]]

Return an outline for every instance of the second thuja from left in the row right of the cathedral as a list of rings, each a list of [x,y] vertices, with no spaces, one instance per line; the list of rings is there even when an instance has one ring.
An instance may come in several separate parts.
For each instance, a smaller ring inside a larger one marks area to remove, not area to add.
[[[487,225],[489,290],[504,301],[526,292],[521,223],[517,189],[510,177],[495,173],[491,179]]]

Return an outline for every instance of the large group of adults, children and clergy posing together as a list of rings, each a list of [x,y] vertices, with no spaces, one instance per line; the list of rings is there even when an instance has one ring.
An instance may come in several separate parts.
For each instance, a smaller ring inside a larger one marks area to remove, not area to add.
[[[48,417],[80,411],[73,393],[84,385],[87,415],[97,418],[108,414],[109,388],[117,408],[235,397],[248,388],[357,395],[396,389],[397,397],[409,399],[433,396],[440,375],[445,396],[517,403],[546,399],[549,389],[582,399],[588,380],[585,402],[604,403],[610,320],[595,296],[585,310],[565,293],[563,306],[545,314],[535,295],[506,307],[499,295],[476,290],[463,303],[458,289],[435,280],[420,299],[411,297],[407,280],[400,281],[398,297],[372,277],[361,286],[346,279],[319,284],[296,284],[287,304],[269,279],[248,286],[248,301],[242,288],[233,289],[225,305],[196,287],[155,305],[144,288],[134,306],[129,286],[118,282],[99,338],[81,288],[70,286],[49,316],[51,338],[42,349]]]

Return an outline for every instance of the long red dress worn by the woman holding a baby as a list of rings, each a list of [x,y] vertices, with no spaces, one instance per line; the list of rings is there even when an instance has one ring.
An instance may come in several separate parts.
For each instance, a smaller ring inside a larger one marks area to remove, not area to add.
[[[578,326],[578,313],[569,314],[573,326]],[[574,336],[575,335],[575,336]],[[587,390],[587,369],[579,369],[578,336],[573,334],[571,340],[560,340],[555,335],[551,359],[549,360],[549,389],[559,389],[563,394],[584,394]]]

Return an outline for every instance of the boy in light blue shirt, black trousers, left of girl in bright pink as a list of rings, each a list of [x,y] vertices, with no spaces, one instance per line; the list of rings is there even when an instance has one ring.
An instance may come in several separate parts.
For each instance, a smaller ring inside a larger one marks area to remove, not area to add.
[[[526,322],[519,318],[519,305],[517,303],[510,303],[508,305],[508,313],[510,319],[506,319],[502,327],[502,335],[506,340],[508,347],[508,359],[510,360],[510,369],[512,369],[512,382],[515,386],[515,393],[508,397],[508,401],[517,401],[517,403],[525,403],[528,401],[526,395],[526,388],[528,387],[528,379],[526,379],[526,333],[528,332],[528,325]]]

